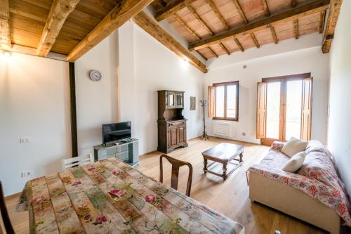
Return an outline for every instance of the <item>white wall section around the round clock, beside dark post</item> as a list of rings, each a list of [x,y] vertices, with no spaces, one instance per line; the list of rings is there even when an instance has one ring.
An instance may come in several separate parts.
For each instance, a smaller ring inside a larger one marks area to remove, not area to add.
[[[118,121],[117,42],[114,32],[75,63],[79,155],[102,143],[102,124]],[[101,72],[100,82],[89,79],[91,70]]]

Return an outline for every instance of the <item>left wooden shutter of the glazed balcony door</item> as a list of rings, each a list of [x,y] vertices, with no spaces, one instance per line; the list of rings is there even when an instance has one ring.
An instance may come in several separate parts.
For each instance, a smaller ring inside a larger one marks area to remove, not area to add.
[[[267,83],[260,82],[257,84],[257,122],[256,138],[265,138],[266,115],[267,111]]]

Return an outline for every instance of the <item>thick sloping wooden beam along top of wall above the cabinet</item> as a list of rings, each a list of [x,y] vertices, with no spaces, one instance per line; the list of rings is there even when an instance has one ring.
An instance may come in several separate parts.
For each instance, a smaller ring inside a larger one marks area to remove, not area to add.
[[[201,70],[201,72],[206,73],[206,65],[201,62],[196,56],[194,56],[187,48],[182,46],[176,39],[174,39],[170,34],[164,31],[157,22],[152,20],[145,12],[140,12],[135,15],[133,21],[143,28],[145,32],[150,34],[154,39],[161,42],[164,46],[169,48],[171,51],[176,53],[180,58],[189,61],[194,67]]]

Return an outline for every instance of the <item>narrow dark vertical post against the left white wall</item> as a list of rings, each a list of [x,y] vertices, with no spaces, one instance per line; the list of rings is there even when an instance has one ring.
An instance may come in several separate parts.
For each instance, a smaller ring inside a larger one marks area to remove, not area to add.
[[[77,110],[76,110],[76,76],[74,74],[74,63],[69,62],[69,103],[71,114],[71,141],[72,157],[78,156],[77,141]]]

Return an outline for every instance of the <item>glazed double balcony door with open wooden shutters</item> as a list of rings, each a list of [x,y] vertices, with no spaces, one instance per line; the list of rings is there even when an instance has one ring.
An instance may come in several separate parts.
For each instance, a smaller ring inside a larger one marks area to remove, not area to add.
[[[311,110],[310,73],[262,79],[258,83],[258,138],[263,145],[292,136],[310,140]]]

